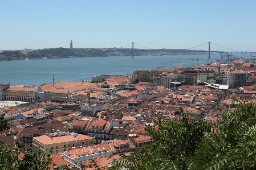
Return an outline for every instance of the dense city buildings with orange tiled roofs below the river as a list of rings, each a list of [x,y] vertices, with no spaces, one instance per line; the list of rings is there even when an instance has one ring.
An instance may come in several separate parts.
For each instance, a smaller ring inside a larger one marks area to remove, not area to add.
[[[101,168],[108,167],[120,157],[120,150],[129,154],[154,143],[145,127],[158,130],[158,117],[180,119],[180,107],[216,125],[236,105],[225,96],[254,99],[255,70],[239,60],[232,65],[157,68],[135,71],[133,76],[92,78],[105,80],[100,83],[0,84],[0,114],[11,124],[0,140],[22,152],[52,151],[51,169],[64,164],[94,168],[91,159]],[[5,101],[23,103],[8,106]]]

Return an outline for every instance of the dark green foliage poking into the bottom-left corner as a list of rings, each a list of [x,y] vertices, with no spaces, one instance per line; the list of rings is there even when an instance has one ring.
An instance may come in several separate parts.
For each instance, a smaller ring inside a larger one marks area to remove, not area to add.
[[[0,131],[5,131],[10,128],[7,120],[4,119],[4,115],[0,115]],[[0,142],[0,167],[1,169],[16,170],[16,169],[50,169],[48,165],[51,163],[50,154],[41,154],[26,150],[24,156],[19,159],[19,149],[15,148],[15,152],[10,146],[3,146],[3,142]]]

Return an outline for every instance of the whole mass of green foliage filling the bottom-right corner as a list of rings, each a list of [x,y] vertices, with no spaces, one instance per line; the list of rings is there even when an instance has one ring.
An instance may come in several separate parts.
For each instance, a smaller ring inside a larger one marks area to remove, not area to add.
[[[238,101],[236,101],[238,102]],[[149,126],[155,144],[113,161],[110,169],[256,169],[256,106],[239,103],[218,126],[182,111],[182,119]]]

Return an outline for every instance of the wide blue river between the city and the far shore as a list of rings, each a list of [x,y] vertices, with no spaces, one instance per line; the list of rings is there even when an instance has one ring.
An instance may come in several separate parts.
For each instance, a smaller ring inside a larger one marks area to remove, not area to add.
[[[250,57],[239,54],[237,57]],[[0,61],[0,83],[14,85],[41,85],[59,81],[91,81],[99,74],[132,74],[136,70],[174,68],[178,65],[192,67],[206,64],[208,55],[135,56],[132,57],[83,57],[64,59]],[[220,60],[220,55],[211,55],[210,61]]]

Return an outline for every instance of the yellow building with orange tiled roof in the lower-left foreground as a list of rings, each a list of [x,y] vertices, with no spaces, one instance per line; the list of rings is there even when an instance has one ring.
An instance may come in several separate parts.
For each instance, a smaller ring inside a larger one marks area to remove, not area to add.
[[[32,150],[48,153],[52,150],[52,154],[59,154],[59,152],[65,152],[72,148],[87,147],[95,144],[93,137],[76,134],[72,132],[55,132],[33,138]]]

